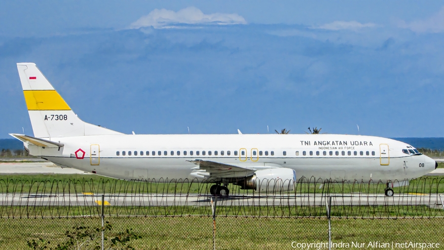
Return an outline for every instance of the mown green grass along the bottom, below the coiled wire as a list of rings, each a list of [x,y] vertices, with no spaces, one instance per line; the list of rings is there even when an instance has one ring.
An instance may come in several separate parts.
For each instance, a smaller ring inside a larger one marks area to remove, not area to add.
[[[106,217],[112,230],[107,238],[132,228],[141,239],[130,241],[135,249],[211,249],[211,216]],[[332,218],[332,242],[430,242],[444,243],[443,218],[433,219],[338,219]],[[101,228],[100,217],[75,219],[0,219],[2,249],[26,249],[26,242],[42,238],[55,247],[66,240],[73,226]],[[100,232],[98,232],[98,236]],[[326,218],[217,217],[217,249],[291,249],[292,242],[328,242]],[[106,241],[106,246],[109,246]],[[316,248],[312,248],[316,249]],[[328,248],[322,248],[328,249]]]

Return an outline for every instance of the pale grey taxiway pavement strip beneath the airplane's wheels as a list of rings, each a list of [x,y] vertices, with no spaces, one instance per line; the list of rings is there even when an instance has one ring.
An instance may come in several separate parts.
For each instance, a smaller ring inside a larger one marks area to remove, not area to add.
[[[442,195],[443,196],[443,195]],[[439,195],[404,194],[387,197],[384,195],[332,196],[332,206],[387,206],[387,205],[427,205],[442,209]],[[106,194],[106,206],[209,206],[211,195],[161,195],[147,194],[123,196]],[[218,206],[325,206],[328,197],[322,195],[298,196],[229,196],[218,197]],[[0,194],[0,206],[98,206],[102,195],[95,194]]]

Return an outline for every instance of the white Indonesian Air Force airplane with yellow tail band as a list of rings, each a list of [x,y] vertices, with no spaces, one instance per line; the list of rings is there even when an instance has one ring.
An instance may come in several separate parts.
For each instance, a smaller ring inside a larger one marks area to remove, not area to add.
[[[411,145],[344,134],[124,134],[80,120],[34,63],[17,63],[34,135],[10,135],[33,156],[125,180],[197,179],[257,192],[291,191],[298,177],[387,183],[438,167]],[[300,178],[299,180],[301,180]],[[266,183],[264,181],[267,181]],[[265,183],[265,184],[264,184]],[[408,184],[408,183],[407,183]],[[405,184],[405,185],[407,185]]]

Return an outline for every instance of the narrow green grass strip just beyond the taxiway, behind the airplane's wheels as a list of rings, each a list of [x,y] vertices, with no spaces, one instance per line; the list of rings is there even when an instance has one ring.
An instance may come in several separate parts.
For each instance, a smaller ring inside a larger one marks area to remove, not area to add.
[[[314,181],[311,180],[311,181]],[[297,183],[296,190],[276,193],[277,195],[301,194],[384,194],[385,183],[341,183],[322,184],[322,180],[314,183]],[[395,183],[396,184],[396,183]],[[213,184],[196,183],[192,180],[155,183],[146,181],[126,181],[98,175],[84,174],[35,174],[35,175],[0,175],[0,193],[24,194],[81,194],[81,193],[117,193],[117,194],[208,194]],[[252,190],[242,190],[237,185],[229,185],[232,195],[256,194]],[[444,176],[426,176],[410,181],[408,186],[395,187],[395,193],[444,193]],[[264,195],[261,193],[260,195]]]

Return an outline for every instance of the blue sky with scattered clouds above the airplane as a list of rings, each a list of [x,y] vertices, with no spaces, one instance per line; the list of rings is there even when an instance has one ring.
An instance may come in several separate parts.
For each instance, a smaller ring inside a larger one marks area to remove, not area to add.
[[[2,1],[0,23],[0,138],[32,134],[25,61],[125,133],[444,136],[442,1]]]

